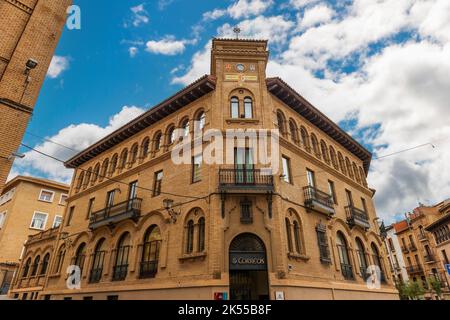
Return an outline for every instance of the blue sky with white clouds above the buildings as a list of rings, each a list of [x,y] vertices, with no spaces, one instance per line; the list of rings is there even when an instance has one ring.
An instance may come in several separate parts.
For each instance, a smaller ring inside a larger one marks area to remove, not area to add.
[[[25,144],[68,159],[207,74],[212,37],[239,26],[243,38],[269,40],[268,76],[373,152],[381,218],[450,197],[450,1],[74,3],[81,29],[63,32]],[[70,182],[60,163],[21,151],[9,178]]]

